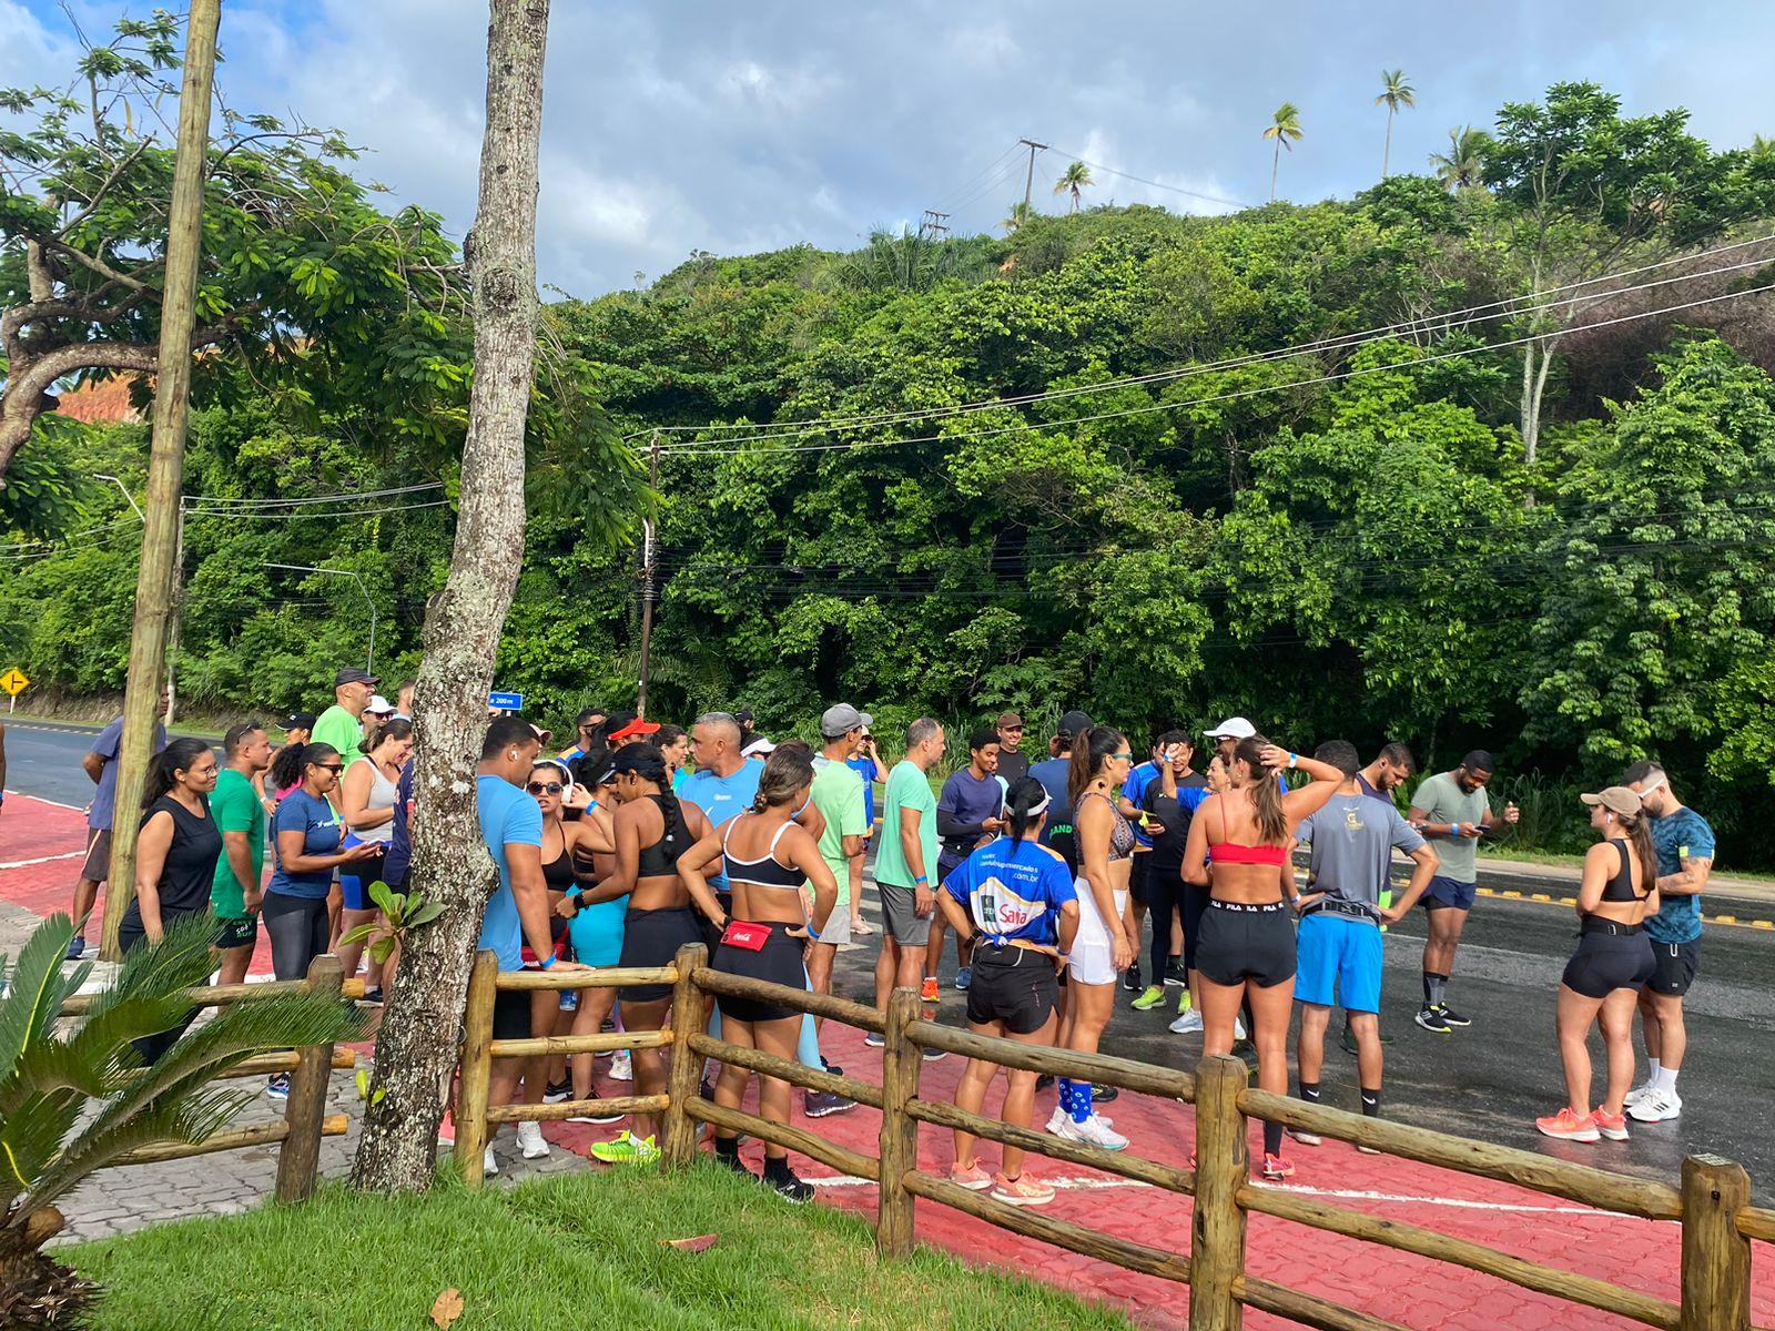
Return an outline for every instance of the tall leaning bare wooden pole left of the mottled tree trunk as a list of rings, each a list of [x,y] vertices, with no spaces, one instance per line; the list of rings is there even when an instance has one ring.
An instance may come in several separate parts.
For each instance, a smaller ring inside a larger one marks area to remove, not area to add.
[[[112,818],[110,884],[99,955],[117,960],[117,925],[135,896],[135,838],[154,747],[154,712],[167,669],[172,618],[172,564],[179,543],[179,490],[185,484],[185,424],[192,401],[192,323],[197,264],[204,241],[204,170],[209,156],[209,98],[217,67],[222,0],[190,0],[185,20],[185,76],[179,89],[179,147],[167,215],[167,268],[160,296],[160,353],[154,360],[154,426],[147,460],[147,515],[135,580],[135,626],[122,696],[117,749],[117,804]]]

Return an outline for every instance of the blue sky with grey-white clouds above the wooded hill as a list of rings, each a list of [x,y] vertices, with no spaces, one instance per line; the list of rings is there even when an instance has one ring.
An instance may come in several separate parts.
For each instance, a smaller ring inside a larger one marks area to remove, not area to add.
[[[0,0],[0,85],[66,82],[76,25],[98,41],[149,9]],[[462,238],[485,50],[486,5],[469,0],[225,0],[218,85],[240,110],[343,130],[390,206],[435,209]],[[1269,195],[1262,130],[1282,101],[1305,138],[1282,154],[1280,197],[1347,197],[1381,174],[1381,69],[1416,89],[1395,172],[1566,80],[1628,114],[1686,106],[1702,138],[1743,146],[1775,133],[1770,50],[1764,0],[554,0],[540,275],[596,296],[692,250],[852,248],[927,208],[996,231],[1022,197],[1019,138],[1051,146],[1038,209],[1067,208],[1054,179],[1085,158],[1086,206],[1228,211]]]

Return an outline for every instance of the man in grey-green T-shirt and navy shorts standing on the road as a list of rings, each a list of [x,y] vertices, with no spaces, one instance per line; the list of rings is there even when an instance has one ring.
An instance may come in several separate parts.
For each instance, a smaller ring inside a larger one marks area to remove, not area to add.
[[[1415,1019],[1432,1035],[1473,1024],[1448,1006],[1448,976],[1479,891],[1479,838],[1500,827],[1486,799],[1486,783],[1496,768],[1489,752],[1473,749],[1452,772],[1424,777],[1406,815],[1427,841],[1443,843],[1436,852],[1441,859],[1438,873],[1424,891],[1429,935],[1424,939],[1424,1006]],[[1516,806],[1505,804],[1502,822],[1512,825],[1516,816]]]

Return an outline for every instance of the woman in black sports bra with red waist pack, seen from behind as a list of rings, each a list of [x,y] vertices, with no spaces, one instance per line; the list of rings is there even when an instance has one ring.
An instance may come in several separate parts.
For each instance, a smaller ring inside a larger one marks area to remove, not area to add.
[[[788,988],[808,988],[802,969],[806,926],[818,933],[838,903],[838,878],[820,855],[815,836],[795,823],[795,813],[808,802],[813,786],[813,761],[804,749],[779,747],[765,760],[758,777],[758,797],[751,813],[730,818],[719,832],[698,841],[678,861],[678,877],[696,903],[721,926],[721,944],[710,967],[747,980],[765,980]],[[733,893],[728,918],[705,871],[721,861]],[[801,887],[813,887],[813,918],[802,905]],[[793,1059],[801,1036],[801,1012],[769,999],[717,996],[721,1033],[728,1044],[761,1049]],[[746,1079],[753,1074],[735,1063],[721,1067],[715,1104],[738,1109]],[[758,1079],[758,1113],[772,1123],[788,1123],[788,1083]],[[724,1129],[715,1130],[715,1157],[744,1170],[740,1141]],[[749,1171],[747,1171],[749,1173]],[[808,1201],[813,1187],[788,1168],[788,1152],[765,1143],[769,1187],[790,1201]]]

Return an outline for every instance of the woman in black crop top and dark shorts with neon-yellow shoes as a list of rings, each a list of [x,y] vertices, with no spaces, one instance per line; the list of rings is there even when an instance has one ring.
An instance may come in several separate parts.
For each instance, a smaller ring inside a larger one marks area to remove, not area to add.
[[[628,898],[618,965],[667,965],[683,944],[703,941],[703,928],[678,878],[676,862],[699,836],[708,834],[708,818],[699,807],[671,793],[666,758],[651,744],[625,744],[611,754],[609,763],[609,790],[618,800],[611,820],[616,871],[596,887],[579,891],[579,910]],[[628,985],[619,990],[618,1001],[623,1004],[625,1031],[657,1031],[666,1024],[671,985]],[[666,1090],[660,1051],[637,1049],[632,1065],[635,1095],[660,1095]],[[623,1129],[616,1141],[593,1146],[593,1159],[623,1164],[659,1159],[651,1114],[644,1127],[646,1136]]]

